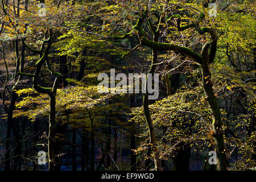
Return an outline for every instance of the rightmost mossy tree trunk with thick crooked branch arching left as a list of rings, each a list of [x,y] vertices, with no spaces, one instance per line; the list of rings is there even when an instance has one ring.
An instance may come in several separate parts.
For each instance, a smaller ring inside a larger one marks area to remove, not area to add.
[[[146,38],[146,34],[143,31],[142,24],[144,19],[147,19],[148,11],[145,10],[141,14],[141,17],[138,18],[137,23],[134,26],[134,30],[138,31],[138,36],[141,41],[141,44],[143,46],[147,46],[152,48],[153,50],[171,50],[174,51],[176,54],[183,54],[186,56],[191,57],[193,60],[195,60],[197,63],[201,64],[201,71],[202,71],[202,82],[203,82],[203,88],[205,92],[205,96],[207,97],[208,104],[210,107],[210,111],[212,113],[212,120],[213,120],[213,130],[214,130],[214,138],[216,139],[216,152],[218,156],[218,169],[219,170],[226,170],[226,155],[225,155],[225,144],[223,139],[223,131],[222,131],[222,122],[221,122],[221,115],[220,115],[220,107],[218,106],[216,97],[214,96],[214,92],[212,89],[212,82],[210,80],[210,68],[209,64],[213,62],[215,54],[216,54],[216,47],[217,47],[217,35],[214,32],[212,28],[200,28],[199,23],[201,20],[205,18],[205,15],[203,13],[200,14],[199,22],[189,24],[184,27],[180,27],[180,18],[177,19],[177,28],[179,31],[186,30],[187,28],[195,28],[197,32],[199,32],[200,35],[204,35],[205,33],[209,33],[211,38],[210,40],[204,44],[202,48],[202,53],[199,55],[198,53],[192,51],[189,48],[177,46],[175,44],[169,44],[169,43],[158,43],[152,40],[149,40]],[[160,15],[159,17],[162,17]],[[180,17],[180,15],[173,15],[169,18],[169,20]],[[161,20],[159,20],[161,22]],[[150,26],[152,23],[148,23]],[[126,34],[126,35],[130,35]],[[210,47],[210,53],[208,52],[208,49]],[[153,55],[154,56],[154,55]],[[155,62],[151,64],[151,69],[155,67]],[[145,100],[144,100],[145,102]],[[146,106],[146,108],[145,108]],[[150,130],[150,136],[151,136],[151,143],[155,143],[155,137],[154,137],[154,130],[152,129],[152,123],[150,122],[150,118],[148,117],[147,113],[147,102],[144,104],[144,112],[145,117],[147,118],[148,123],[148,129]],[[159,156],[156,154],[155,158],[155,167],[156,169],[160,169],[160,163],[159,163]]]

